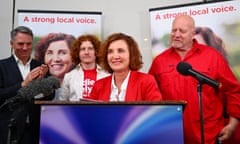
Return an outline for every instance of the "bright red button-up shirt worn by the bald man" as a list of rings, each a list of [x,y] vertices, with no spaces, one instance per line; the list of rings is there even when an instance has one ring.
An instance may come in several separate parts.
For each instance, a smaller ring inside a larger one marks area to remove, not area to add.
[[[240,84],[220,53],[196,41],[183,60],[173,48],[155,58],[149,73],[157,80],[163,100],[187,101],[184,111],[185,144],[200,143],[201,131],[198,81],[177,72],[176,66],[181,61],[189,63],[194,70],[222,83],[220,90],[207,84],[202,86],[205,142],[214,144],[218,133],[224,127],[222,95],[227,99],[227,113],[240,118]]]

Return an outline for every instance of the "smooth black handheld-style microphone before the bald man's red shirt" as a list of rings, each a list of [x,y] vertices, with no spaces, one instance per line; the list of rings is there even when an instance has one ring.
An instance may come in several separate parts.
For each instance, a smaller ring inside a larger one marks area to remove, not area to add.
[[[180,62],[177,65],[177,71],[184,75],[184,76],[192,76],[195,79],[197,79],[198,81],[208,84],[213,88],[221,88],[221,83],[219,83],[218,81],[215,81],[209,77],[207,77],[206,75],[203,75],[199,72],[197,72],[196,70],[192,69],[192,66],[186,62]]]

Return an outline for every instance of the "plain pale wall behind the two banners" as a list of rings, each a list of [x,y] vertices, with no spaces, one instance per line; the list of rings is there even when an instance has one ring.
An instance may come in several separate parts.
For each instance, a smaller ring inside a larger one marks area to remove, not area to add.
[[[147,72],[151,62],[150,17],[149,9],[201,2],[202,0],[16,0],[17,9],[26,10],[66,10],[66,11],[101,11],[103,13],[103,38],[114,32],[127,33],[138,42],[143,55],[144,67]],[[1,53],[0,58],[10,55],[9,32],[11,30],[13,0],[0,2]],[[15,26],[17,23],[15,23]],[[144,39],[149,39],[144,41]],[[4,50],[2,50],[4,49]]]

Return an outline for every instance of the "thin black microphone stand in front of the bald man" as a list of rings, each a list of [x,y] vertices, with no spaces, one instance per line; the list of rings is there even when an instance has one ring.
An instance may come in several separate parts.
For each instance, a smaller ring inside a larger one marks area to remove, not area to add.
[[[198,98],[199,98],[199,110],[200,110],[200,128],[201,128],[201,144],[204,144],[204,117],[203,117],[203,102],[202,102],[202,81],[199,79],[197,86]]]

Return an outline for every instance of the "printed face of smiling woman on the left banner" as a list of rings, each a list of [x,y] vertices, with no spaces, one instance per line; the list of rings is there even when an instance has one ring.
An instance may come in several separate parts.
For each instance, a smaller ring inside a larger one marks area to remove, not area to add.
[[[52,42],[46,50],[44,62],[51,75],[62,79],[73,65],[67,43],[64,40]]]

